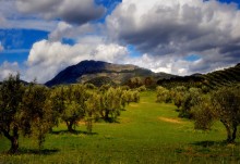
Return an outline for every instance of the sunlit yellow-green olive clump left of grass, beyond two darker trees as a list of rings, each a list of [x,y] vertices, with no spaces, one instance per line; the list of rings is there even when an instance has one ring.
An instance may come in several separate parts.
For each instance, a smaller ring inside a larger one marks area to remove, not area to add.
[[[85,121],[88,133],[92,133],[94,121],[103,118],[116,122],[127,103],[139,100],[139,91],[125,87],[112,88],[109,85],[97,89],[91,84],[55,87],[50,96],[56,117],[65,122],[71,133],[74,133],[73,128],[80,121]]]

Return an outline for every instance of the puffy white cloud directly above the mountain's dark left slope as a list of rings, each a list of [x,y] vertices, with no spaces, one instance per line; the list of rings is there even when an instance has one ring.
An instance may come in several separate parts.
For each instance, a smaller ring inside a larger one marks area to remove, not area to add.
[[[104,42],[97,37],[83,38],[74,46],[41,40],[34,43],[29,52],[26,62],[28,67],[26,80],[37,78],[39,83],[46,83],[61,70],[83,60],[117,62],[117,60],[124,59],[127,54],[127,48]]]

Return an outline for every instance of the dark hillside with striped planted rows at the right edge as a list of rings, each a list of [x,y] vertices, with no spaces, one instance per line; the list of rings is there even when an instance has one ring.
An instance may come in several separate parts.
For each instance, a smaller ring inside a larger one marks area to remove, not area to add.
[[[193,74],[191,76],[159,79],[157,85],[171,88],[176,86],[208,87],[211,89],[231,86],[240,83],[240,64],[208,74]]]

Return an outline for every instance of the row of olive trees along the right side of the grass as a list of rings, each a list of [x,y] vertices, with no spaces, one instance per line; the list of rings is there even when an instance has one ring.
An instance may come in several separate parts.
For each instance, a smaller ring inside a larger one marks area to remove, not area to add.
[[[235,142],[240,125],[240,85],[206,92],[201,88],[157,87],[157,102],[173,103],[179,116],[194,121],[196,129],[208,130],[215,121],[226,128],[227,142]]]

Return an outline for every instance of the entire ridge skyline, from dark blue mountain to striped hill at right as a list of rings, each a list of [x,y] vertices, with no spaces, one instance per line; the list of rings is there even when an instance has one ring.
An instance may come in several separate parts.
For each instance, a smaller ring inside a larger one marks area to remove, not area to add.
[[[177,76],[167,73],[154,73],[151,70],[142,68],[132,64],[112,64],[103,61],[82,61],[61,71],[51,80],[45,85],[48,87],[68,84],[91,83],[96,86],[104,84],[125,85],[131,78],[140,77],[144,81],[152,78],[157,85],[176,86],[206,85],[224,86],[240,81],[240,63],[233,67],[227,67],[221,71],[215,71],[207,74],[195,73],[189,76]]]

